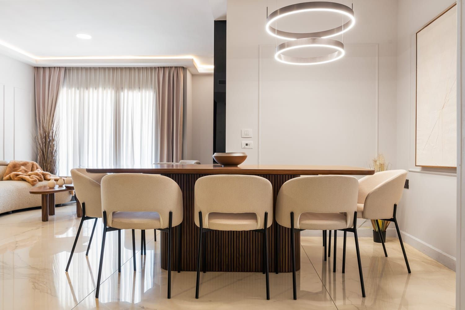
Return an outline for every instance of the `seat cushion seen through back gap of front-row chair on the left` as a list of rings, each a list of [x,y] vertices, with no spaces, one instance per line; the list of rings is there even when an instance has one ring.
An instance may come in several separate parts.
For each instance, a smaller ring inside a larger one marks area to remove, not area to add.
[[[161,228],[160,215],[157,212],[113,212],[109,226],[120,229],[158,229]]]

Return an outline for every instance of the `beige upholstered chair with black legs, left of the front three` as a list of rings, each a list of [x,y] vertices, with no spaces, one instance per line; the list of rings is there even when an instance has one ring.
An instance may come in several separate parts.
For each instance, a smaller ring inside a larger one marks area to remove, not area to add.
[[[171,298],[172,230],[183,219],[182,193],[171,178],[155,174],[117,173],[102,179],[103,238],[95,298],[99,297],[105,236],[121,229],[158,229],[168,233],[168,298]],[[120,238],[119,238],[120,240]],[[134,240],[134,234],[133,234]],[[120,246],[118,257],[120,257]],[[180,251],[178,272],[180,270]],[[120,259],[119,259],[120,264]],[[135,257],[133,257],[135,271]]]

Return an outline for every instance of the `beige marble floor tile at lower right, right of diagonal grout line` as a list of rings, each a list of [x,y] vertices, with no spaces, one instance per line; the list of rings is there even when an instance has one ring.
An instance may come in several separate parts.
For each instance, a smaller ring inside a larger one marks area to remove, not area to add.
[[[366,298],[362,298],[353,237],[347,237],[346,269],[342,274],[343,238],[338,237],[336,273],[333,258],[323,259],[319,237],[302,238],[302,246],[338,309],[454,309],[455,272],[405,244],[412,273],[405,267],[397,238],[381,244],[359,238]]]

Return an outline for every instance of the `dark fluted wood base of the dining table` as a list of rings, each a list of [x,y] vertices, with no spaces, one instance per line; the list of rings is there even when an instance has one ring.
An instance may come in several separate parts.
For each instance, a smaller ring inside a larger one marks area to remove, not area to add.
[[[207,174],[163,174],[178,183],[184,199],[184,220],[181,224],[181,270],[195,271],[199,228],[194,224],[194,184]],[[273,213],[281,185],[299,175],[259,175],[270,180],[273,186]],[[198,216],[198,215],[197,215]],[[275,271],[275,252],[279,251],[279,272],[291,272],[290,229],[279,227],[279,249],[276,249],[277,224],[268,228],[270,272]],[[263,234],[254,231],[209,231],[204,235],[206,245],[206,271],[254,271],[263,268]],[[300,269],[300,233],[295,233],[296,270]],[[171,266],[177,270],[178,229],[173,229],[173,255]],[[161,232],[161,267],[168,268],[168,234]]]

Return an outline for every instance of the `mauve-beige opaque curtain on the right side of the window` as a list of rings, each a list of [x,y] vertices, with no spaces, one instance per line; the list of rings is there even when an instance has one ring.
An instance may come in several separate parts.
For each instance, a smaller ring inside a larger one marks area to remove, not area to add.
[[[182,155],[182,67],[157,69],[158,161],[179,162]]]

